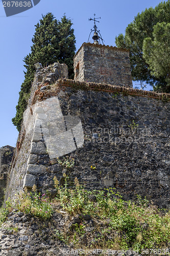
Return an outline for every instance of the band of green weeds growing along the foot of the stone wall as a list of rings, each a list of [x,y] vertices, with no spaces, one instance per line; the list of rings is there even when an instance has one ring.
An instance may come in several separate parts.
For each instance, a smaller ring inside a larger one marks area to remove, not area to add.
[[[60,206],[57,207],[57,212],[62,208],[61,214],[71,221],[65,222],[65,227],[61,230],[55,226],[53,235],[57,240],[68,245],[72,243],[76,249],[132,248],[141,254],[142,250],[148,248],[168,251],[169,210],[149,205],[148,200],[140,196],[137,196],[135,203],[125,201],[115,188],[88,191],[79,183],[78,178],[75,178],[74,186],[70,186],[70,178],[66,174],[63,175],[63,180],[63,185],[60,185],[57,178],[54,178],[57,196],[53,199],[53,206]],[[10,199],[6,205],[1,221],[6,220],[14,209],[14,203]],[[18,211],[40,217],[40,221],[41,218],[49,219],[52,216],[51,205],[51,200],[45,194],[37,193],[35,185],[32,192],[25,189],[19,196],[19,201],[15,201],[15,209],[17,206]],[[51,221],[52,219],[49,223]],[[16,232],[14,228],[13,232]]]

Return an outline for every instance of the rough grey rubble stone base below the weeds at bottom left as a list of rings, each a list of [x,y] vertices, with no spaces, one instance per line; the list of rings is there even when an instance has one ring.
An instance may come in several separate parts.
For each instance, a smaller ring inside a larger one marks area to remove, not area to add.
[[[59,211],[56,211],[50,220],[40,220],[13,210],[8,220],[0,228],[0,255],[102,255],[100,250],[97,251],[97,248],[101,247],[96,244],[96,238],[99,242],[101,230],[105,228],[104,224],[98,220],[92,220],[88,215],[72,217],[62,210]],[[75,224],[77,226],[84,225],[85,233],[80,233],[79,239],[75,240],[74,244],[68,242],[67,238],[74,237]],[[65,237],[62,235],[63,233],[65,233]],[[81,251],[78,252],[78,249]],[[106,254],[110,256],[123,255],[118,250],[106,251]],[[131,250],[124,255],[138,256],[140,254],[135,254]]]

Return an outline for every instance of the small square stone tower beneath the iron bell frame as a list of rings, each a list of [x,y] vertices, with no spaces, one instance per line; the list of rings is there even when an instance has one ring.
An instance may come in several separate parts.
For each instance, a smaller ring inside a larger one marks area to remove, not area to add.
[[[76,81],[107,83],[132,88],[129,51],[85,43],[74,57]]]

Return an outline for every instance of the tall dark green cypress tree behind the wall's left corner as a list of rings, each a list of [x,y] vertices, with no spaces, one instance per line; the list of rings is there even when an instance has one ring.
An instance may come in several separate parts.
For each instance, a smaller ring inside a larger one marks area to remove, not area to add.
[[[34,79],[35,63],[40,62],[43,67],[57,61],[65,63],[68,66],[69,78],[74,77],[73,57],[76,50],[76,40],[74,29],[71,29],[71,26],[71,20],[66,18],[65,14],[59,21],[55,19],[52,13],[42,15],[42,19],[35,25],[31,53],[23,59],[27,71],[19,92],[16,116],[12,119],[18,131],[20,131],[23,112],[27,108],[28,95]]]

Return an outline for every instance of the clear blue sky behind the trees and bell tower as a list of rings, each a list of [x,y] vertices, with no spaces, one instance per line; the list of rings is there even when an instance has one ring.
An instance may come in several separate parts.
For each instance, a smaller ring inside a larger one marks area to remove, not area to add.
[[[3,0],[4,1],[4,0]],[[18,0],[19,1],[19,0]],[[21,0],[20,0],[21,1]],[[72,19],[76,35],[76,48],[87,42],[93,22],[88,18],[101,16],[98,29],[105,40],[105,45],[115,46],[115,36],[125,33],[125,29],[138,12],[155,7],[159,0],[41,0],[32,9],[20,14],[6,17],[0,0],[1,23],[1,100],[0,100],[0,147],[16,145],[18,132],[11,119],[15,116],[18,92],[23,82],[23,58],[30,52],[34,25],[41,14],[52,12],[57,19],[65,13]],[[150,90],[151,88],[148,87]]]

